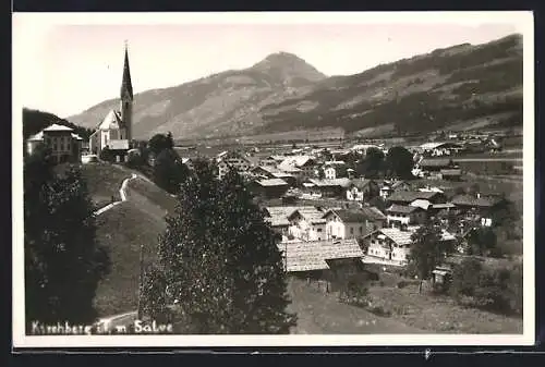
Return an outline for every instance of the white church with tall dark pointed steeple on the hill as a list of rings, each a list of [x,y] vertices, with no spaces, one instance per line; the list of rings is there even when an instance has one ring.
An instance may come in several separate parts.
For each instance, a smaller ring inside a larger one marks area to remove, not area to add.
[[[92,154],[100,155],[105,148],[108,148],[113,154],[113,157],[116,157],[116,161],[121,162],[126,160],[126,152],[132,148],[133,99],[129,51],[125,44],[120,109],[119,111],[109,111],[90,135],[89,150]]]

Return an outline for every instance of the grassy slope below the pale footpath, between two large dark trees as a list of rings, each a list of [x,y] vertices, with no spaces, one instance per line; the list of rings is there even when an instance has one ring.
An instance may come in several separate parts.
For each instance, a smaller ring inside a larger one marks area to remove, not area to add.
[[[165,215],[174,198],[142,179],[131,180],[124,201],[97,218],[98,240],[110,250],[112,269],[97,290],[99,315],[133,310],[137,306],[140,246],[144,266],[156,260],[159,234],[166,229]]]

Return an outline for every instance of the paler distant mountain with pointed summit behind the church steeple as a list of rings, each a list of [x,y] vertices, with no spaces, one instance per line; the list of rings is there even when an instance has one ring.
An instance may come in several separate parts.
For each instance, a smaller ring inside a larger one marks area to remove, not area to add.
[[[174,136],[245,133],[262,124],[262,107],[299,96],[323,78],[325,75],[296,56],[280,52],[250,69],[144,91],[134,96],[134,136],[148,138],[168,131]],[[108,100],[69,120],[96,126],[118,103],[118,99]]]

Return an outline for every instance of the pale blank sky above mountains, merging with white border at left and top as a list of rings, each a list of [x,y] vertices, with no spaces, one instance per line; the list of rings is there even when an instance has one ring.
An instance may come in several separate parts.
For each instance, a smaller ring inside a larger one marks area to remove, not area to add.
[[[14,14],[14,90],[23,106],[61,118],[118,98],[125,40],[136,94],[250,68],[279,51],[299,56],[326,75],[348,75],[437,48],[521,32],[520,22],[505,14],[182,15]]]

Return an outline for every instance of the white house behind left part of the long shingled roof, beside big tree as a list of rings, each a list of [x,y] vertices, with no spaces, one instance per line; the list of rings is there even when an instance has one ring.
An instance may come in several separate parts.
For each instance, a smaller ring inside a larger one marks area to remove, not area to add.
[[[289,234],[302,241],[322,241],[326,238],[324,212],[315,207],[303,207],[288,216]]]

